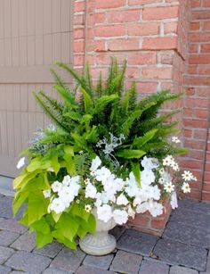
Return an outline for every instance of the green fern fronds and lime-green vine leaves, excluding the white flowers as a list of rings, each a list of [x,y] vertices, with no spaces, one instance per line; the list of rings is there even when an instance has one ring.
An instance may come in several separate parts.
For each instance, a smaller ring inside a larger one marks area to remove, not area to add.
[[[94,232],[93,215],[85,212],[82,203],[73,203],[68,211],[61,214],[49,213],[50,199],[44,198],[43,190],[49,189],[52,182],[61,181],[68,174],[85,178],[95,155],[99,155],[103,164],[123,179],[133,170],[141,184],[140,159],[143,155],[162,159],[166,154],[185,152],[168,142],[171,133],[178,129],[175,128],[177,121],[167,123],[166,120],[177,111],[159,112],[167,101],[175,100],[182,94],[164,90],[138,101],[135,83],[129,89],[124,87],[126,63],[120,67],[114,58],[108,78],[103,81],[100,73],[95,86],[88,64],[84,75],[64,63],[57,64],[69,72],[76,87],[71,90],[52,70],[56,81],[55,91],[62,102],[59,103],[43,91],[35,94],[37,103],[57,129],[44,129],[41,137],[25,151],[28,154],[28,166],[13,182],[17,190],[13,212],[16,214],[21,205],[27,203],[20,222],[28,225],[31,231],[36,231],[37,247],[51,243],[55,238],[75,249],[77,237]],[[79,93],[79,99],[75,98],[76,92]],[[111,153],[106,154],[98,144],[104,138],[110,144],[110,134],[124,138]]]

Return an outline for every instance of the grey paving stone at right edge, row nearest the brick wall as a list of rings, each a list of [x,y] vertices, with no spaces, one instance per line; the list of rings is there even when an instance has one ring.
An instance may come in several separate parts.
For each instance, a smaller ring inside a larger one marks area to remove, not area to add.
[[[202,203],[198,201],[193,201],[193,200],[179,200],[178,202],[179,207],[185,207],[190,209],[190,211],[195,211],[195,212],[205,212],[206,214],[210,215],[210,203]]]

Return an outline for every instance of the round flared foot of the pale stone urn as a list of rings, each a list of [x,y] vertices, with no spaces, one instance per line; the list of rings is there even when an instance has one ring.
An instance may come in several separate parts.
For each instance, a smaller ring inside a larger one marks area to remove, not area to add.
[[[116,239],[107,231],[95,232],[81,239],[79,246],[85,253],[101,256],[111,253],[116,248]]]

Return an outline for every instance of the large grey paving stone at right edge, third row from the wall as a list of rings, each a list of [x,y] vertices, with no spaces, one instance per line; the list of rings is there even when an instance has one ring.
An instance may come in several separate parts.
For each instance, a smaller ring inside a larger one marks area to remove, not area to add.
[[[210,246],[210,228],[198,229],[176,221],[167,224],[163,237],[200,247]]]

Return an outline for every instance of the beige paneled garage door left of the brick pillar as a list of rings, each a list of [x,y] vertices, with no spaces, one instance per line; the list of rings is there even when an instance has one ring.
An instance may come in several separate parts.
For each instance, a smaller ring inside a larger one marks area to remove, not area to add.
[[[71,63],[72,8],[73,0],[0,0],[0,175],[17,174],[20,150],[49,123],[32,91],[52,94],[52,63]]]

